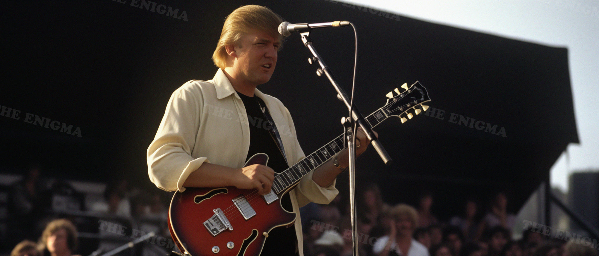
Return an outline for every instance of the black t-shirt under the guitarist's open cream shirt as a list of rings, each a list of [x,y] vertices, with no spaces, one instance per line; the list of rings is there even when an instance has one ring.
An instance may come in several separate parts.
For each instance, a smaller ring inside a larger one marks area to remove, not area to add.
[[[246,107],[247,119],[250,126],[250,149],[247,152],[246,161],[255,154],[265,153],[268,155],[267,166],[273,168],[276,173],[283,172],[289,166],[275,142],[276,138],[273,138],[273,135],[271,135],[273,127],[263,112],[266,104],[259,97],[249,97],[239,92],[237,94],[241,97],[243,105]],[[281,202],[283,208],[290,212],[293,211],[289,193],[286,193],[282,197]],[[261,255],[298,255],[296,253],[296,244],[297,236],[295,235],[294,225],[291,225],[289,228],[277,227],[268,234]]]

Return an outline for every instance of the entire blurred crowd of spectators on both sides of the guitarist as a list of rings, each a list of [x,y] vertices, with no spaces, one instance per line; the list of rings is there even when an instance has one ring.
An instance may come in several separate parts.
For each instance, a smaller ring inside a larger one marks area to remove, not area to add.
[[[167,227],[168,203],[159,194],[132,189],[126,181],[106,187],[104,201],[77,206],[72,215],[49,214],[43,198],[48,191],[71,194],[68,186],[40,184],[40,170],[32,166],[22,181],[11,186],[9,237],[11,256],[69,256],[78,250],[78,228],[96,234],[93,250],[101,255],[141,234],[154,232],[171,239]],[[57,189],[58,187],[59,189]],[[72,189],[72,188],[71,188]],[[62,191],[62,192],[61,192]],[[66,191],[66,192],[65,192]],[[46,196],[46,197],[44,197]],[[563,240],[550,240],[543,234],[524,230],[514,240],[515,216],[507,211],[508,196],[495,193],[491,202],[467,199],[462,214],[442,221],[431,211],[434,194],[424,191],[416,205],[389,205],[383,200],[377,184],[367,184],[357,197],[357,230],[359,255],[365,256],[599,256],[597,249]],[[485,210],[483,210],[485,209]],[[352,225],[347,213],[349,205],[340,196],[329,205],[311,203],[301,208],[304,224],[305,256],[350,256],[353,254]],[[95,213],[96,218],[81,223],[82,212]],[[57,217],[63,218],[57,218]],[[104,225],[104,227],[102,227]],[[123,230],[117,228],[122,227]],[[89,227],[92,228],[89,228]],[[122,231],[122,232],[121,232]],[[139,234],[133,234],[137,231]],[[89,238],[89,237],[88,237]],[[173,243],[156,243],[146,239],[144,246],[119,255],[166,255]],[[87,255],[87,254],[86,254]]]

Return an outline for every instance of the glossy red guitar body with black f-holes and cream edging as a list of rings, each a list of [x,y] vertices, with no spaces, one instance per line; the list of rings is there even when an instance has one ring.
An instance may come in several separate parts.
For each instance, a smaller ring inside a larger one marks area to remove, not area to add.
[[[266,165],[267,161],[268,156],[257,154],[246,166],[256,163]],[[277,194],[279,199],[286,191]],[[255,211],[248,220],[234,204],[240,195]],[[296,214],[285,211],[280,202],[276,200],[268,204],[257,190],[186,188],[182,193],[177,191],[171,201],[168,221],[171,236],[181,252],[192,256],[259,255],[270,230],[295,221]],[[232,230],[226,228],[220,233],[211,233],[210,225],[207,227],[204,222],[216,215],[214,209],[222,211]]]

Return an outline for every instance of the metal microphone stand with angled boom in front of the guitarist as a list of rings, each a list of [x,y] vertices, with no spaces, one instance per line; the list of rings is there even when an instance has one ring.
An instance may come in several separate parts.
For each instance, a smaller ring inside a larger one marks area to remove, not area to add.
[[[383,145],[380,144],[379,140],[376,138],[376,136],[374,136],[373,131],[370,129],[370,125],[365,124],[364,123],[364,117],[362,117],[362,114],[360,114],[360,112],[358,111],[358,109],[355,106],[352,106],[352,104],[350,104],[350,100],[349,97],[347,97],[347,94],[344,92],[344,90],[339,86],[339,84],[337,84],[337,81],[335,81],[335,78],[333,77],[333,75],[331,74],[331,71],[329,71],[328,66],[325,65],[325,63],[323,62],[322,58],[320,57],[320,55],[316,52],[316,49],[314,48],[314,45],[310,39],[310,31],[307,32],[302,32],[301,34],[301,40],[302,42],[304,42],[305,47],[308,48],[308,50],[310,50],[310,52],[312,53],[312,55],[314,57],[310,58],[310,64],[314,62],[318,62],[320,65],[320,68],[317,69],[316,74],[317,75],[322,75],[325,74],[327,78],[329,78],[329,81],[331,81],[332,86],[335,88],[335,90],[337,91],[337,97],[338,99],[342,100],[345,105],[347,106],[347,109],[349,109],[349,114],[350,117],[347,118],[343,118],[341,123],[344,124],[344,127],[346,128],[346,139],[347,139],[347,148],[349,150],[349,202],[350,202],[350,217],[352,220],[352,244],[353,244],[353,255],[357,256],[358,255],[358,241],[356,241],[356,237],[358,237],[358,229],[357,229],[357,221],[356,221],[356,207],[355,207],[355,164],[356,164],[356,148],[355,148],[355,144],[353,143],[354,139],[354,133],[355,131],[352,130],[352,127],[355,127],[355,123],[357,123],[360,127],[362,127],[362,130],[364,130],[364,133],[366,133],[366,136],[368,137],[368,139],[370,139],[371,144],[373,145],[374,149],[377,151],[377,153],[379,153],[379,156],[381,157],[381,159],[383,160],[383,162],[387,165],[392,163],[391,157],[389,157],[389,154],[387,154],[387,151],[385,150],[385,148],[383,148]]]

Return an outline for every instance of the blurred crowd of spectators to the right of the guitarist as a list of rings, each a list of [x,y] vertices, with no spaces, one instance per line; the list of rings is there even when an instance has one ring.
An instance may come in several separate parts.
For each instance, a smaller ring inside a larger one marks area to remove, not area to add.
[[[505,191],[497,191],[490,202],[480,202],[474,198],[465,200],[462,214],[447,221],[439,220],[431,211],[434,194],[430,191],[420,194],[416,206],[385,203],[376,184],[367,185],[356,197],[359,255],[599,255],[599,251],[592,246],[550,239],[531,230],[524,230],[521,239],[513,239],[515,215],[507,211],[508,196]],[[338,205],[304,208],[306,256],[353,255],[349,217],[339,214],[343,208],[334,209],[334,206]]]

